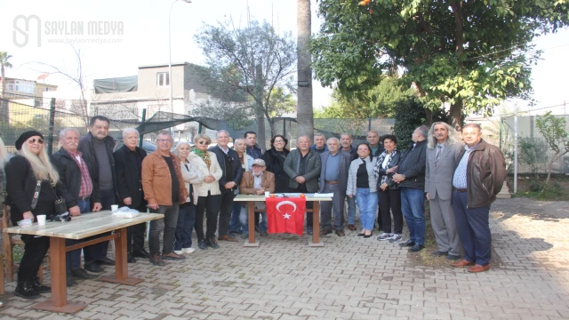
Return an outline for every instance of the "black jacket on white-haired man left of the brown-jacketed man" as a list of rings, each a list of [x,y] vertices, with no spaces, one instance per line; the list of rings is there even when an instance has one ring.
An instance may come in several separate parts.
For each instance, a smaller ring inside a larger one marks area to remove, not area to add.
[[[132,198],[130,207],[137,209],[148,204],[148,202],[144,199],[144,190],[142,190],[141,164],[132,161],[133,155],[131,154],[134,153],[138,154],[142,159],[147,156],[146,151],[142,148],[136,147],[132,151],[128,147],[123,146],[115,151],[113,157],[115,158],[116,193],[118,194],[120,204],[124,204],[124,198],[130,197]]]

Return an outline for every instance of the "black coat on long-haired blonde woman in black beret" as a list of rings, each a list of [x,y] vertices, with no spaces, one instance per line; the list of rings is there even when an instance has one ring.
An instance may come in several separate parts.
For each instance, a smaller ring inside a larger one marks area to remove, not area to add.
[[[13,156],[5,166],[6,171],[6,204],[12,207],[11,220],[14,226],[23,219],[23,213],[31,211],[36,217],[38,214],[50,216],[53,212],[55,194],[63,193],[63,185],[58,181],[53,190],[49,181],[42,181],[36,208],[32,209],[32,200],[36,192],[36,175],[28,159],[23,156]]]

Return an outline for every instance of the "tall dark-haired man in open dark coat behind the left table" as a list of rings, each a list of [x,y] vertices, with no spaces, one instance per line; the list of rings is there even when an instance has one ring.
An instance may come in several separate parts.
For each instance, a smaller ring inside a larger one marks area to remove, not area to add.
[[[78,150],[92,178],[92,188],[97,198],[92,200],[92,212],[110,210],[116,201],[115,158],[113,148],[115,140],[108,136],[110,122],[106,116],[93,116],[87,129],[89,132],[79,140]],[[102,234],[100,236],[107,236]],[[84,248],[85,269],[91,272],[103,272],[100,265],[115,266],[115,261],[107,258],[108,241]]]

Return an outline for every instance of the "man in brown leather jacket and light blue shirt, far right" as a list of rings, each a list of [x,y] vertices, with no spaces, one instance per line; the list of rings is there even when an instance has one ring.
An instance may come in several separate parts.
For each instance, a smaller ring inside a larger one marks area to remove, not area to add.
[[[500,148],[482,140],[479,124],[465,124],[462,139],[466,146],[457,157],[454,170],[453,211],[464,259],[452,265],[482,272],[490,268],[490,204],[506,179],[506,163]]]

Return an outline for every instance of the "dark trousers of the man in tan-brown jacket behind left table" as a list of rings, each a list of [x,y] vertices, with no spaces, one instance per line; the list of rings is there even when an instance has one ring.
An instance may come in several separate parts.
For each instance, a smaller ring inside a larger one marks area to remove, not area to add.
[[[148,249],[150,253],[160,252],[160,232],[164,229],[164,241],[162,243],[162,253],[170,253],[174,248],[174,234],[178,224],[178,206],[180,204],[160,205],[158,210],[152,213],[164,214],[164,219],[150,221],[150,232],[148,233]]]

